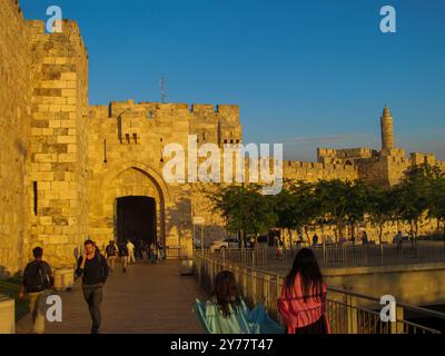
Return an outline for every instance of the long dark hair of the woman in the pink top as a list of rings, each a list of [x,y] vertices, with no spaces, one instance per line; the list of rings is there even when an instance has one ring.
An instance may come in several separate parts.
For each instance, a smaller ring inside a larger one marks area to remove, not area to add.
[[[295,256],[293,268],[285,279],[285,286],[290,296],[297,275],[301,278],[303,300],[306,303],[310,297],[319,300],[323,295],[324,280],[317,258],[312,249],[301,248]]]

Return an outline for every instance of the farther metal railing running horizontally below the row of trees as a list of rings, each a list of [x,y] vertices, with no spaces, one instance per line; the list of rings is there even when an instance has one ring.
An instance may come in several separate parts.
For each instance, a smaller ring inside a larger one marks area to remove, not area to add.
[[[392,266],[405,264],[445,261],[445,241],[405,241],[383,245],[319,245],[310,247],[322,268]],[[256,267],[291,264],[298,247],[280,249],[274,247],[257,249],[221,249],[212,254],[246,266]]]

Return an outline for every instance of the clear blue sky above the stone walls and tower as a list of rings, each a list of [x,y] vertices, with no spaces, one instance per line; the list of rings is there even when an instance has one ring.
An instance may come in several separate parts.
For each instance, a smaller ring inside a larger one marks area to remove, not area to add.
[[[396,144],[445,159],[445,1],[21,0],[26,18],[57,4],[88,48],[90,103],[238,103],[245,142],[379,147],[388,103]],[[396,9],[382,33],[379,10]]]

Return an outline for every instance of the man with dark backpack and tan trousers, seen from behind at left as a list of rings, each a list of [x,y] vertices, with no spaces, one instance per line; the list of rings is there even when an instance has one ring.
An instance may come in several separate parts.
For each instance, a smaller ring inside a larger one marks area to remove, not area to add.
[[[43,334],[46,316],[41,305],[44,303],[44,290],[52,288],[55,278],[51,267],[42,260],[43,249],[41,247],[36,247],[32,254],[34,260],[29,263],[23,271],[23,284],[20,287],[20,300],[23,300],[24,293],[27,293],[32,323],[34,324],[33,332],[34,334]]]

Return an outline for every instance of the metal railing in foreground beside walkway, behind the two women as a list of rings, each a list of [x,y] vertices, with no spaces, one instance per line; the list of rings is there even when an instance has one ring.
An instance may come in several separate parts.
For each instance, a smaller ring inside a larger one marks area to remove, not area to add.
[[[199,285],[210,291],[215,276],[221,270],[230,270],[237,280],[245,300],[254,306],[264,304],[268,314],[281,323],[277,309],[284,276],[243,266],[228,259],[217,258],[209,253],[195,253],[195,276]],[[385,323],[380,318],[379,299],[349,293],[338,288],[328,288],[326,312],[333,334],[441,334],[434,329],[406,319],[434,318],[445,323],[445,314],[397,303],[396,322]]]

